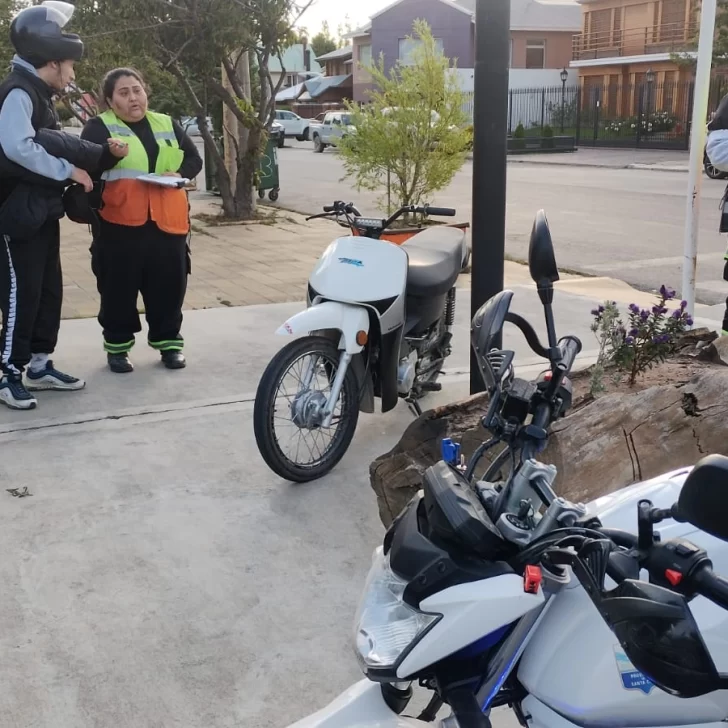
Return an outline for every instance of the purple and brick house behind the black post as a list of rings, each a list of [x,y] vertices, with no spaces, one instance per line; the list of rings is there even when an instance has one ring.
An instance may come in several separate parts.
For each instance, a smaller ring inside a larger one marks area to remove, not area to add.
[[[371,16],[349,36],[352,42],[353,96],[366,101],[372,88],[367,67],[380,55],[385,70],[412,57],[412,25],[425,20],[436,43],[460,69],[475,65],[476,0],[397,0]],[[559,74],[572,57],[572,38],[581,28],[575,2],[511,0],[511,82],[517,86],[560,85]],[[320,59],[319,59],[320,60]],[[516,82],[514,79],[518,77]]]

